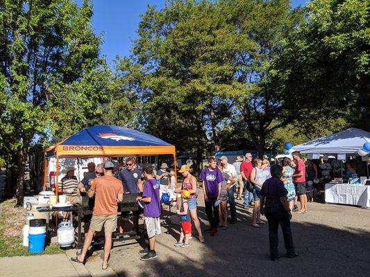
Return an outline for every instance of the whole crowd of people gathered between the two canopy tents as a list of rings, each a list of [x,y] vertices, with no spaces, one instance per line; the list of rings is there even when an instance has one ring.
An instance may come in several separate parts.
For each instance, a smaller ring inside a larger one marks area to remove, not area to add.
[[[95,166],[87,165],[88,172],[81,182],[74,176],[74,168],[68,168],[67,175],[60,184],[60,193],[68,197],[86,194],[92,199],[90,207],[93,215],[85,234],[85,242],[80,256],[72,258],[74,262],[85,262],[86,254],[96,232],[104,229],[104,259],[102,269],[108,267],[108,258],[112,246],[112,233],[124,229],[123,222],[117,224],[117,204],[122,201],[125,193],[140,193],[137,201],[144,204],[144,224],[148,235],[148,245],[140,251],[141,260],[157,258],[155,252],[155,235],[160,234],[160,185],[175,188],[180,193],[182,201],[176,211],[180,216],[180,238],[175,247],[189,247],[192,238],[192,223],[200,242],[205,242],[205,235],[197,215],[198,196],[203,190],[205,213],[210,224],[204,232],[215,237],[219,229],[228,229],[228,224],[238,222],[235,199],[242,199],[244,208],[253,206],[251,226],[260,228],[267,224],[261,220],[266,215],[269,223],[271,259],[276,260],[277,229],[282,226],[289,257],[296,256],[292,242],[292,232],[289,227],[290,211],[307,213],[306,168],[299,153],[293,154],[294,160],[285,159],[284,167],[270,166],[267,157],[253,159],[251,153],[246,153],[245,159],[237,157],[234,163],[229,163],[228,157],[219,159],[210,157],[208,166],[201,170],[199,178],[203,186],[199,188],[193,169],[188,165],[181,166],[178,172],[183,176],[182,184],[176,188],[174,171],[169,171],[166,163],[162,163],[158,171],[149,164],[141,169],[135,165],[134,159],[128,157],[125,167],[115,166],[108,159]],[[278,167],[278,168],[276,168]],[[267,185],[268,184],[268,185]],[[269,188],[269,189],[267,189]],[[296,208],[297,197],[301,208]],[[73,201],[73,199],[70,199]],[[280,210],[281,211],[280,211]],[[276,211],[275,211],[276,210]],[[283,216],[284,215],[284,216]]]

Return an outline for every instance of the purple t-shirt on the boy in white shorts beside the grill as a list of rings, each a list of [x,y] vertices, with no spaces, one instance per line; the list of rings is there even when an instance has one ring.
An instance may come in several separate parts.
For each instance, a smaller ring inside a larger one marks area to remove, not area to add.
[[[144,217],[160,217],[159,185],[154,178],[145,182],[142,197],[151,197],[144,205]]]

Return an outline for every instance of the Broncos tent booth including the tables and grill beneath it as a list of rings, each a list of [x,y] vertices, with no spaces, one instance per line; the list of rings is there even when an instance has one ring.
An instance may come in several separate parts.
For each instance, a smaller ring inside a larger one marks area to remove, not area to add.
[[[119,158],[119,157],[135,157],[136,161],[143,156],[158,156],[158,155],[169,155],[174,161],[174,170],[176,177],[176,156],[175,147],[170,145],[161,139],[138,132],[133,129],[126,127],[117,127],[110,125],[96,125],[93,127],[87,127],[72,136],[69,136],[64,141],[53,145],[45,153],[44,162],[44,190],[47,188],[55,190],[55,195],[58,197],[58,184],[60,183],[60,171],[71,165],[73,159],[99,159],[102,161],[103,158]],[[50,162],[53,159],[53,162]],[[67,161],[67,162],[66,162]],[[74,161],[73,161],[74,162]],[[49,164],[48,164],[49,163]],[[53,166],[53,168],[51,168]],[[53,170],[53,181],[49,178],[49,184],[47,186],[47,177],[49,172]],[[78,181],[81,181],[79,177]],[[51,186],[51,183],[54,186]],[[45,191],[45,193],[53,193],[52,191]],[[167,191],[166,191],[167,193]],[[41,194],[41,193],[40,193]],[[119,211],[117,217],[122,220],[127,220],[128,216],[131,215],[133,220],[134,228],[133,231],[126,233],[114,233],[113,240],[137,240],[140,238],[138,222],[140,208],[136,201],[136,197],[139,194],[131,193],[124,194],[124,200],[119,204]],[[62,196],[60,196],[62,197]],[[59,197],[59,198],[60,198]],[[88,204],[88,197],[84,199],[81,197],[80,203],[69,204],[67,207],[60,207],[58,204],[50,205],[37,208],[40,213],[61,213],[70,212],[74,213],[74,227],[76,227],[76,248],[78,251],[83,245],[83,222],[88,220],[89,215],[91,217],[92,211]],[[58,199],[58,198],[57,198]],[[87,200],[87,201],[86,201]],[[176,201],[176,199],[175,199]],[[49,203],[49,202],[48,202]],[[51,203],[51,202],[50,202]],[[56,217],[56,222],[57,222]],[[59,232],[59,231],[58,231]]]

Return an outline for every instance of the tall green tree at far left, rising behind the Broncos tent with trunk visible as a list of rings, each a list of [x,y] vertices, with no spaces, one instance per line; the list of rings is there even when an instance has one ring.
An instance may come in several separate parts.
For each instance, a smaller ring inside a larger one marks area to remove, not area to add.
[[[0,2],[0,149],[22,203],[24,164],[34,139],[61,139],[99,123],[108,70],[92,6],[72,0]]]

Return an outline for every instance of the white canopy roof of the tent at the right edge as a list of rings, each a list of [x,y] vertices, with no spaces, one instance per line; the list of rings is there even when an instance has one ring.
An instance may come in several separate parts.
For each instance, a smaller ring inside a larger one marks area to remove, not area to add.
[[[357,154],[364,143],[370,142],[370,132],[349,128],[293,147],[304,154]]]

